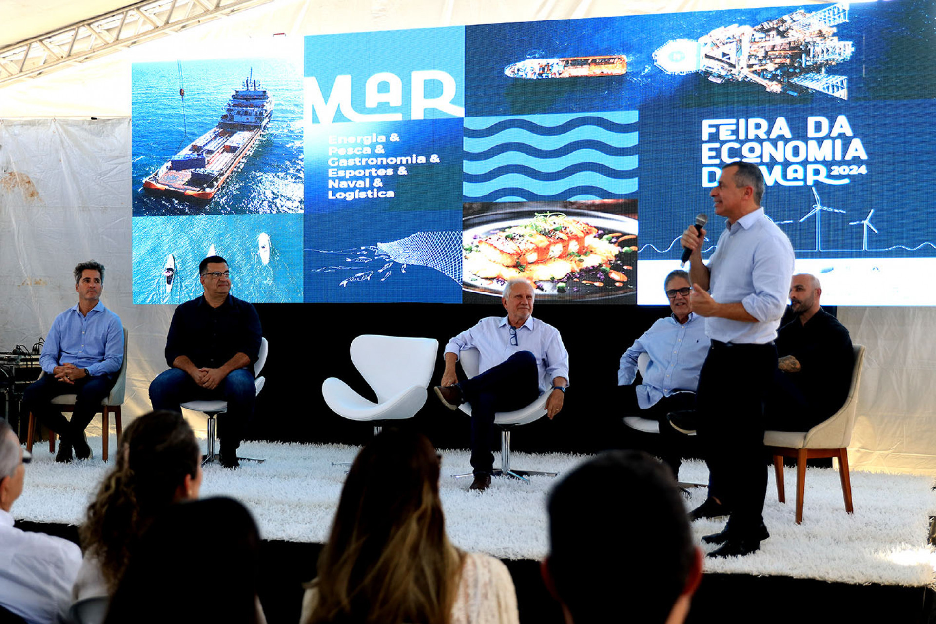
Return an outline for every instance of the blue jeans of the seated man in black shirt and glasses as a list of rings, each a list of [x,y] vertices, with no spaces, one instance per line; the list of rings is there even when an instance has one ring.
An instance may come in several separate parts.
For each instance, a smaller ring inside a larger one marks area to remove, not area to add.
[[[221,447],[237,450],[244,429],[254,416],[256,385],[252,369],[232,370],[213,390],[197,385],[182,369],[164,370],[150,384],[150,402],[154,410],[182,412],[181,404],[185,401],[219,399],[227,401],[224,435],[219,433],[218,436],[221,438]],[[220,420],[218,429],[220,432]]]

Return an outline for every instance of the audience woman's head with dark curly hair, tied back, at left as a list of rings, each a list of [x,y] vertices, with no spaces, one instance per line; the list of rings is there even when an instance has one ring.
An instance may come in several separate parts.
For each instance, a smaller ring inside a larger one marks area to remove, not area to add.
[[[114,467],[80,529],[110,591],[153,518],[173,502],[197,498],[200,486],[201,450],[182,414],[145,414],[124,429]]]

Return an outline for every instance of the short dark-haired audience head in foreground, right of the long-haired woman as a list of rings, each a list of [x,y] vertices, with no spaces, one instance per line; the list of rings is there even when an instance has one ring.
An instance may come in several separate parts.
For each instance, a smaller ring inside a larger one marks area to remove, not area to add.
[[[605,622],[622,609],[635,622],[682,621],[702,559],[663,464],[639,451],[603,453],[553,489],[548,513],[543,575],[567,622]]]

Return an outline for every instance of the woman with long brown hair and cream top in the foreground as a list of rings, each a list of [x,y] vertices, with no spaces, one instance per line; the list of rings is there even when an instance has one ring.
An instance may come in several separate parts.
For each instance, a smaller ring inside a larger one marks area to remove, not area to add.
[[[358,453],[301,624],[519,622],[505,565],[446,537],[439,457],[425,436],[384,431]]]

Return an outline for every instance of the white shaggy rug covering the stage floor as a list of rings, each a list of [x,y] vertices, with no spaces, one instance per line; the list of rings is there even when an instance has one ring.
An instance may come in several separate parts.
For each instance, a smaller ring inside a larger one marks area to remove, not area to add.
[[[37,443],[33,462],[26,467],[22,498],[13,505],[13,516],[79,524],[108,468],[99,458],[101,439],[92,437],[89,443],[95,458],[73,464],[56,464],[48,446]],[[267,461],[242,462],[238,471],[209,467],[201,495],[225,495],[242,501],[255,515],[265,539],[321,543],[328,536],[346,470],[332,462],[351,461],[357,452],[357,447],[338,444],[243,443],[241,456],[266,457]],[[452,542],[502,559],[542,558],[548,548],[545,501],[555,479],[533,477],[531,484],[494,479],[487,492],[469,492],[470,479],[450,478],[451,474],[471,472],[468,453],[442,453],[442,499]],[[515,453],[511,463],[518,469],[563,473],[582,459]],[[929,515],[936,515],[936,492],[930,490],[930,478],[853,472],[855,515],[848,515],[838,472],[811,469],[806,478],[803,524],[797,526],[796,473],[793,469],[785,473],[785,504],[777,501],[773,471],[769,474],[764,519],[770,539],[761,544],[760,552],[746,558],[706,559],[708,572],[909,587],[936,581],[936,555],[927,544]],[[680,479],[705,483],[705,464],[684,463]],[[700,504],[705,496],[706,488],[695,488],[687,508]],[[635,505],[639,513],[639,501],[622,504]],[[699,520],[693,529],[698,538],[723,526],[721,521]]]

